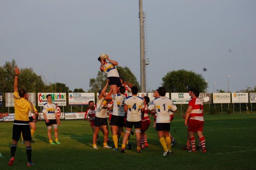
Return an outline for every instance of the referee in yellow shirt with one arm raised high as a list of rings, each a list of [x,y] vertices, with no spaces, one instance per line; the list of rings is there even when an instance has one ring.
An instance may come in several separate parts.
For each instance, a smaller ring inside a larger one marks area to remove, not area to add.
[[[29,128],[29,110],[35,113],[35,121],[38,118],[38,112],[35,106],[31,101],[26,99],[26,90],[20,89],[18,92],[18,77],[20,75],[19,67],[15,67],[15,78],[14,78],[14,109],[15,109],[15,118],[12,128],[12,145],[11,145],[11,158],[8,165],[12,166],[14,162],[14,155],[17,147],[17,143],[20,139],[20,134],[22,132],[23,138],[26,145],[26,154],[28,158],[27,166],[33,166],[31,161],[32,147],[31,147],[31,133]]]

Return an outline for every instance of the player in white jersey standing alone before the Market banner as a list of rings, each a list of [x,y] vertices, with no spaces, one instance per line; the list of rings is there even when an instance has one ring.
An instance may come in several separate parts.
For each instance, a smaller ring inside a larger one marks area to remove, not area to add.
[[[43,114],[45,118],[45,124],[47,126],[47,135],[49,138],[49,144],[61,144],[58,141],[58,125],[61,125],[60,118],[57,115],[57,109],[54,103],[52,103],[52,96],[48,94],[46,96],[47,103],[43,106]],[[54,130],[55,143],[52,141],[52,128]]]

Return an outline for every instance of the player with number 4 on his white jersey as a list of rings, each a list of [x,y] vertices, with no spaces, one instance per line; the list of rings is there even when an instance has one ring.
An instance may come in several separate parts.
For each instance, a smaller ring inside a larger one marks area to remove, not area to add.
[[[131,87],[132,95],[125,99],[125,112],[127,112],[125,135],[122,141],[121,153],[125,152],[125,144],[131,133],[131,129],[134,126],[136,141],[137,141],[137,153],[140,153],[140,129],[141,129],[141,112],[144,111],[143,98],[138,97],[138,87]]]

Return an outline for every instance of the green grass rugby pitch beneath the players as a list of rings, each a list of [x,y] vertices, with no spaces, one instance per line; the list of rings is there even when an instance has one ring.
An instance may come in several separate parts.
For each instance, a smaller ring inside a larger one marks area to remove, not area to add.
[[[153,127],[147,131],[149,147],[136,153],[135,135],[131,136],[132,150],[120,153],[102,148],[92,149],[92,130],[84,120],[61,121],[59,141],[61,145],[49,145],[45,123],[37,123],[33,137],[32,161],[35,167],[27,167],[26,147],[20,142],[15,153],[15,162],[8,166],[12,141],[12,123],[0,123],[0,170],[223,170],[256,169],[256,114],[207,115],[204,123],[207,153],[187,153],[184,120],[176,116],[171,124],[171,133],[177,140],[172,155],[163,157],[163,148]],[[152,126],[152,121],[151,121]],[[111,138],[111,134],[110,134]],[[119,144],[120,146],[120,144]],[[253,161],[254,160],[254,161]]]

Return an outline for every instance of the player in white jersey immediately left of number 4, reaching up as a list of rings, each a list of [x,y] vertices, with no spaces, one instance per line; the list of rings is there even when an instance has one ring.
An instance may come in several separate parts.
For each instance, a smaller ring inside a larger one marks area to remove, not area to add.
[[[124,118],[125,118],[125,110],[124,110],[124,102],[125,102],[125,87],[121,86],[118,94],[111,95],[112,89],[108,92],[106,96],[106,100],[113,100],[113,112],[109,124],[111,125],[113,142],[115,148],[113,150],[118,149],[118,134],[124,136],[123,126],[124,126]]]

